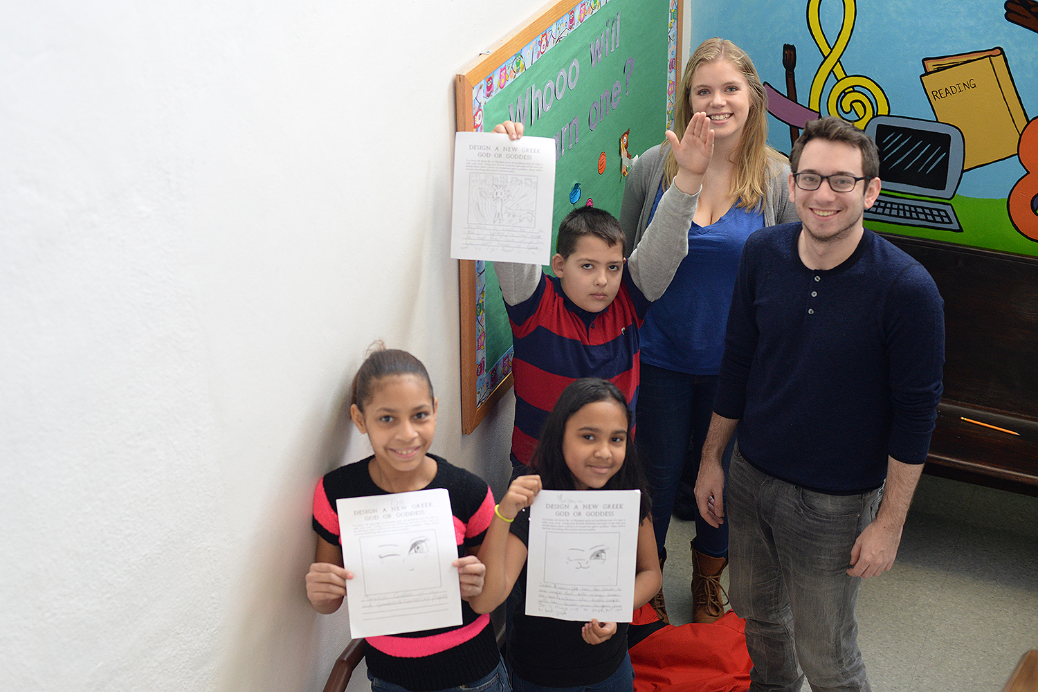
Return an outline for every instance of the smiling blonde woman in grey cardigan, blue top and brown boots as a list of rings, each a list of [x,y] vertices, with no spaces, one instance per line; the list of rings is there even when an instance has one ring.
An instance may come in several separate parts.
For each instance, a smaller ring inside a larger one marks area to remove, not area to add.
[[[652,489],[661,566],[686,458],[692,483],[699,470],[742,246],[758,228],[797,220],[787,188],[789,163],[767,145],[764,86],[749,56],[730,40],[703,41],[685,65],[675,110],[679,138],[700,112],[710,120],[714,151],[688,229],[688,255],[641,328],[636,443]],[[620,215],[627,247],[652,222],[677,171],[666,141],[635,162]],[[690,489],[688,496],[694,511]],[[728,525],[714,528],[696,511],[691,548],[693,621],[712,622],[727,605],[719,578],[728,564]],[[653,605],[665,618],[662,597],[660,589]]]

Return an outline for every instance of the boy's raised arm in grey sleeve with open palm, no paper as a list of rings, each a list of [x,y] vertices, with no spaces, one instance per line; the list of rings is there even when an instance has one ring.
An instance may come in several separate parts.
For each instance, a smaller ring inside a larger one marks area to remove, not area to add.
[[[681,140],[670,130],[666,138],[678,162],[678,173],[627,260],[634,285],[651,301],[663,295],[688,254],[688,228],[695,216],[703,175],[713,158],[713,131],[705,113],[692,116]]]

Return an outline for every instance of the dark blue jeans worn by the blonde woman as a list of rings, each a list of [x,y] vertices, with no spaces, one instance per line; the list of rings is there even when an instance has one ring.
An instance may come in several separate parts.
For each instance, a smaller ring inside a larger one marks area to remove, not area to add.
[[[692,476],[699,473],[716,391],[716,376],[688,375],[641,363],[634,443],[652,491],[652,522],[660,557],[685,464],[693,467],[688,470]],[[726,471],[732,458],[732,437],[722,459]],[[728,554],[728,523],[714,528],[695,513],[695,549],[701,553],[713,557]]]

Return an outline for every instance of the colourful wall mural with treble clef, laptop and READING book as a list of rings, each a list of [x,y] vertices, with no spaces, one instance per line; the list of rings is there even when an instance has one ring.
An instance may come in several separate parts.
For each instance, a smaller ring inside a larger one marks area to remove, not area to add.
[[[688,0],[691,48],[754,58],[769,143],[838,115],[876,138],[866,225],[1038,256],[1038,0]]]

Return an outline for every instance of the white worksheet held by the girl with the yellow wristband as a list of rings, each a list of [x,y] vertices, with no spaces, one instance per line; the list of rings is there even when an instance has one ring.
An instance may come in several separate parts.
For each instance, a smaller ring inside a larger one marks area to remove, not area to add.
[[[630,622],[636,490],[542,490],[529,507],[526,614]]]

